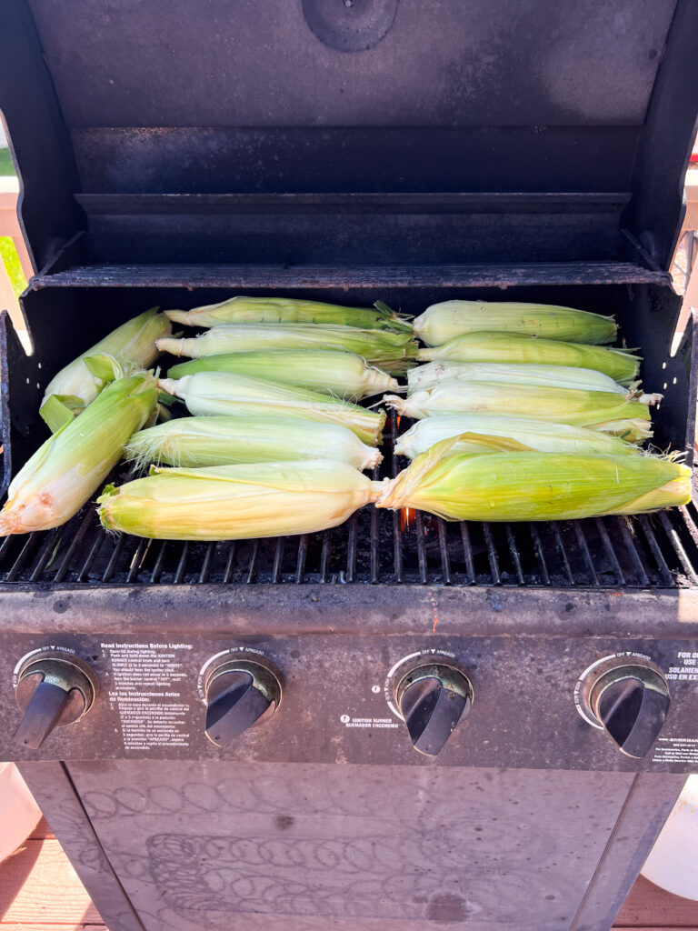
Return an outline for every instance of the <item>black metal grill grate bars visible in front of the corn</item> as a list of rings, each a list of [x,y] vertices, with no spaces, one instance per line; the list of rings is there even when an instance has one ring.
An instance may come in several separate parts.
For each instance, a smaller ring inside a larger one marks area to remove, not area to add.
[[[404,465],[390,454],[395,439],[393,416],[386,475]],[[90,505],[57,530],[7,537],[0,583],[691,587],[698,585],[698,510],[503,524],[420,512],[406,519],[366,507],[324,533],[195,544],[104,533]]]

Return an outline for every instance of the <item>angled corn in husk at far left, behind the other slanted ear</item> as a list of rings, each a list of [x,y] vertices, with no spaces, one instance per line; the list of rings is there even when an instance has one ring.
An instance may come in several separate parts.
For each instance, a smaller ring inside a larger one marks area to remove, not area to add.
[[[51,432],[84,411],[104,385],[129,371],[149,368],[159,355],[155,340],[171,332],[168,318],[152,307],[61,369],[48,383],[41,402],[40,413]]]

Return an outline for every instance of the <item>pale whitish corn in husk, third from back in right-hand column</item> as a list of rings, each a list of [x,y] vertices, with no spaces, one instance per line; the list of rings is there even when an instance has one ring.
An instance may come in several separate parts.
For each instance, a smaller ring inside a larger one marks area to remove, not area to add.
[[[572,369],[563,365],[516,365],[499,362],[428,362],[408,372],[410,392],[445,382],[502,382],[518,385],[551,385],[558,388],[581,388],[584,391],[627,389],[608,375],[593,369]]]

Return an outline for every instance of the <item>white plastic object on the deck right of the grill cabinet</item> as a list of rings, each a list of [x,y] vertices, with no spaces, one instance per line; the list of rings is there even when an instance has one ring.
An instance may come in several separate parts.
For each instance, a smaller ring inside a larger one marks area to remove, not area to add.
[[[698,901],[698,776],[689,776],[642,875],[675,896]]]

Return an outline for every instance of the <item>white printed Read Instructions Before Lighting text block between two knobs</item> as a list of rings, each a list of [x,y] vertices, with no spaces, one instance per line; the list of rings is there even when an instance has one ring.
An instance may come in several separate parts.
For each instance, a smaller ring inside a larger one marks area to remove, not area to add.
[[[189,703],[180,684],[191,643],[102,643],[112,664],[109,702],[118,711],[124,749],[189,747]]]

